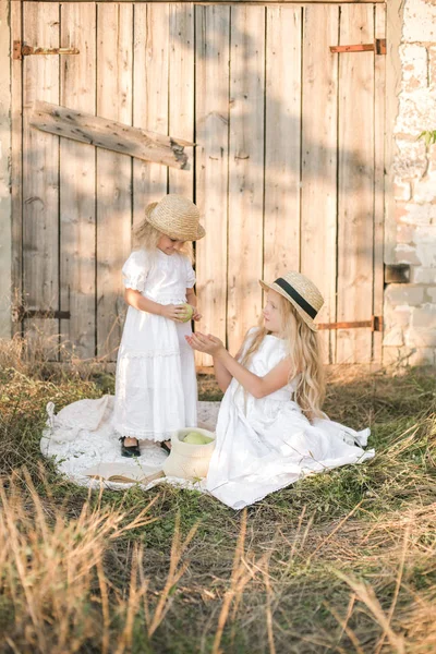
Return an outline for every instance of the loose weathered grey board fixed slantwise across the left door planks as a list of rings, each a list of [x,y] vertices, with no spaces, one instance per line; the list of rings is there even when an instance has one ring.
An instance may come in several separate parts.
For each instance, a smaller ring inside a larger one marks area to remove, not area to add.
[[[123,7],[125,9],[128,5]],[[146,132],[100,116],[49,102],[35,102],[31,124],[57,136],[178,169],[186,167],[187,155],[183,149],[185,145],[192,145],[192,142],[181,138]]]

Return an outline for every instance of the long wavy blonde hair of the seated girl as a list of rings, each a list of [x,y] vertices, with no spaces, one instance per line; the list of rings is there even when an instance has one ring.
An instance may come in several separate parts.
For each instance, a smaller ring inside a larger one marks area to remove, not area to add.
[[[295,401],[308,420],[322,417],[325,397],[324,365],[318,334],[313,331],[300,317],[291,302],[278,294],[282,320],[282,335],[287,354],[291,361],[288,383],[300,375],[295,389]],[[240,363],[247,365],[252,355],[259,349],[264,337],[269,334],[261,316],[258,330],[242,356]]]

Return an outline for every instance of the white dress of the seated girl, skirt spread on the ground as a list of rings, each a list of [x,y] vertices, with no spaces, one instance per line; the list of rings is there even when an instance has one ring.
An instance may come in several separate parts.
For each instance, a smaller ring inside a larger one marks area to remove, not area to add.
[[[245,348],[253,337],[251,330]],[[286,356],[284,341],[265,336],[249,370],[265,376]],[[256,399],[233,378],[222,399],[216,448],[206,479],[211,495],[242,509],[269,493],[322,472],[374,456],[364,451],[370,429],[354,432],[327,417],[310,423],[291,399],[298,379]]]

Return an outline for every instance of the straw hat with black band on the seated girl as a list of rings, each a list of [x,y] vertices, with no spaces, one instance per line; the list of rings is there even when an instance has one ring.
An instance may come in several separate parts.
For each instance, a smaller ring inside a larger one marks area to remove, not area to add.
[[[305,324],[313,331],[316,331],[317,327],[314,318],[324,304],[324,298],[313,281],[301,275],[301,272],[290,270],[272,283],[259,279],[259,284],[264,291],[272,289],[272,291],[277,291],[277,293],[289,300]]]

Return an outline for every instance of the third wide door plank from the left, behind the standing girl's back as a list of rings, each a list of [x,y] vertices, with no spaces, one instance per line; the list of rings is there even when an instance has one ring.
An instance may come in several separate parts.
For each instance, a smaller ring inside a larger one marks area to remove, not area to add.
[[[97,8],[97,113],[132,119],[133,5]],[[132,162],[97,150],[97,353],[114,360],[125,312],[121,268],[131,250]]]

